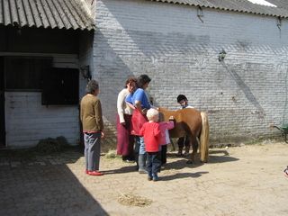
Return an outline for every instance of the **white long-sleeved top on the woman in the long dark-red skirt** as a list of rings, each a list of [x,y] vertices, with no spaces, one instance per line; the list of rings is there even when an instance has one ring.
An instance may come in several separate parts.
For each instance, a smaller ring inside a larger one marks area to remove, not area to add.
[[[124,114],[132,114],[133,110],[125,102],[126,96],[130,94],[127,88],[123,88],[118,94],[117,98],[117,112],[119,114],[120,122],[125,122]]]

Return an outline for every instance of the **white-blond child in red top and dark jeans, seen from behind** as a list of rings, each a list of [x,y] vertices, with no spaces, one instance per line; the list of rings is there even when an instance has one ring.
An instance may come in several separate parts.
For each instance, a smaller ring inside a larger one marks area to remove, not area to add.
[[[148,122],[145,122],[140,130],[140,136],[144,137],[147,152],[148,180],[157,181],[157,172],[161,167],[160,139],[161,131],[159,127],[157,110],[149,109],[147,112]]]

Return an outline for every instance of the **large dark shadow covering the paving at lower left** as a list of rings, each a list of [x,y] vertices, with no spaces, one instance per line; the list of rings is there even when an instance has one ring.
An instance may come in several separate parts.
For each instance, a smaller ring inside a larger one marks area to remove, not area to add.
[[[78,149],[57,157],[27,150],[0,155],[0,215],[108,215],[63,161],[52,164],[61,157],[75,162]]]

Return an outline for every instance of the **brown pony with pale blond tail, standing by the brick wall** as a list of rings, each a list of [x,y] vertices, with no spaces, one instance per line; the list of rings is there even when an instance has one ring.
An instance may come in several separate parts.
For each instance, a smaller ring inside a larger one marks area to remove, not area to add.
[[[165,108],[158,108],[160,118],[168,121],[170,116],[175,118],[175,128],[169,130],[171,138],[189,136],[193,151],[191,159],[187,161],[191,164],[195,161],[200,141],[200,160],[208,161],[209,148],[209,122],[206,112],[199,112],[193,108],[185,108],[177,111],[169,111]]]

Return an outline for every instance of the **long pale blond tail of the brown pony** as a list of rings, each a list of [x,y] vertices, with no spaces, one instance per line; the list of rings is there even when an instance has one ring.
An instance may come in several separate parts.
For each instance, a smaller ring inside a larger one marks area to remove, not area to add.
[[[200,159],[202,162],[208,162],[209,150],[209,122],[206,112],[201,112],[202,131],[200,135]]]

